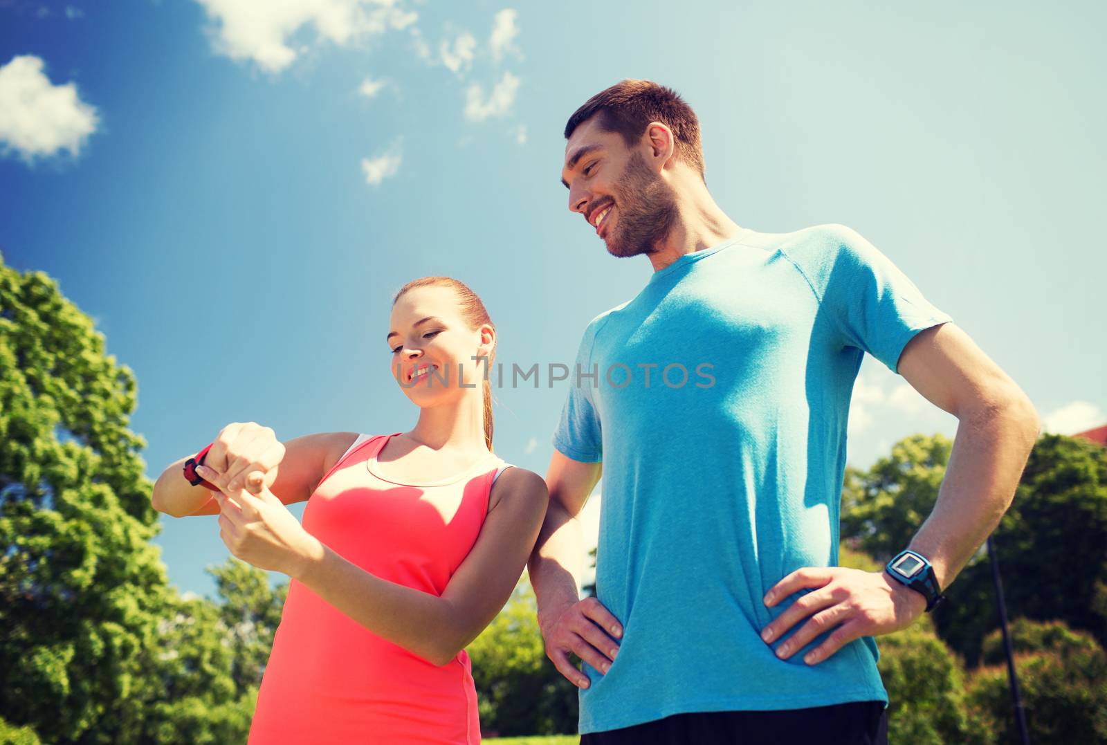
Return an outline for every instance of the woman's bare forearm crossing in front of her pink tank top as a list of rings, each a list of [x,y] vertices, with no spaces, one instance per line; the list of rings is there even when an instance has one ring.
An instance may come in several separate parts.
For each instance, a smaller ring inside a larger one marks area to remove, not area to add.
[[[449,601],[381,579],[318,539],[289,575],[360,625],[433,664],[448,663],[468,641]]]

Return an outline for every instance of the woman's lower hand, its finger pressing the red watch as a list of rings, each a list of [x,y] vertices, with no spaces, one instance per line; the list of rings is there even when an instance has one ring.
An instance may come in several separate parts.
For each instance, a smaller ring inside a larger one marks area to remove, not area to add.
[[[207,466],[197,466],[196,473],[213,483],[220,478]],[[213,494],[219,503],[219,538],[242,561],[296,577],[301,566],[323,552],[323,545],[268,488],[259,495],[244,488]]]

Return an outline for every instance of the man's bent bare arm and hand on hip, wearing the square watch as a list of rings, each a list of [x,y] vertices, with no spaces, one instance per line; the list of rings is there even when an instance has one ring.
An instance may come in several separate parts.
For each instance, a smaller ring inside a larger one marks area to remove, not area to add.
[[[1038,434],[1038,417],[1017,385],[952,323],[922,331],[900,354],[899,372],[927,400],[958,417],[953,452],[938,500],[906,547],[927,557],[941,588],[946,588],[999,525]],[[777,582],[765,596],[776,606],[796,599],[762,630],[776,643],[804,622],[775,652],[788,659],[820,633],[826,640],[804,656],[818,664],[860,637],[908,627],[927,599],[887,572],[844,567],[805,567]]]

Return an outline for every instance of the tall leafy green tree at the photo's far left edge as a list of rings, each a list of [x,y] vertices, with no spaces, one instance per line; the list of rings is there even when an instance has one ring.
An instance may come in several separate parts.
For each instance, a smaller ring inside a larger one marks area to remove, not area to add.
[[[141,731],[167,594],[135,393],[49,277],[0,261],[0,713],[48,742]]]

